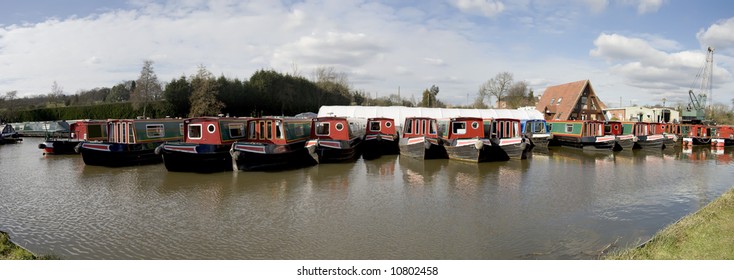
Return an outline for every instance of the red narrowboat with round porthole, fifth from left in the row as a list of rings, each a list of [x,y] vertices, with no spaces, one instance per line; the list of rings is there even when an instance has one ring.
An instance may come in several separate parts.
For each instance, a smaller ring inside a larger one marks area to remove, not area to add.
[[[314,118],[306,149],[316,163],[356,161],[362,153],[366,126],[363,118]]]

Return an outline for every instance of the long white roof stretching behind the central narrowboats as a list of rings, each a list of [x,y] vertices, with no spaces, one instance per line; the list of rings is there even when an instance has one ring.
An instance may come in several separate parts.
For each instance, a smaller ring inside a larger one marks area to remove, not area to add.
[[[534,108],[521,109],[458,109],[458,108],[425,108],[405,106],[321,106],[319,117],[343,116],[354,118],[385,117],[402,121],[408,117],[429,117],[434,119],[478,117],[508,119],[545,119],[543,114]]]

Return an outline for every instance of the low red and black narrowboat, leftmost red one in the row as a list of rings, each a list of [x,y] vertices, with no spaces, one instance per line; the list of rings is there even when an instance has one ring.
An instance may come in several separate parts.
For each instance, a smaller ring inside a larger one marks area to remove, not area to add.
[[[107,140],[107,121],[84,120],[74,123],[60,121],[58,127],[63,128],[47,135],[38,148],[44,155],[78,154],[76,146],[82,141],[101,142]],[[64,137],[66,134],[67,137]]]

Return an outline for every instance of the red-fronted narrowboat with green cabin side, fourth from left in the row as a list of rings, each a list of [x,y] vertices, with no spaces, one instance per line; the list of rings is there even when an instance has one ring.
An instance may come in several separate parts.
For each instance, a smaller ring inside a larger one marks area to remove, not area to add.
[[[232,144],[238,170],[279,170],[313,165],[306,149],[311,120],[262,117],[247,121],[247,138]]]

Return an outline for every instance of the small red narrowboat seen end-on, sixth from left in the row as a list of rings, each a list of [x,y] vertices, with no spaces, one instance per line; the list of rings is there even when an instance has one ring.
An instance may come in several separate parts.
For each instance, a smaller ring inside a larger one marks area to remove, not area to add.
[[[367,119],[367,130],[364,135],[362,158],[375,159],[381,155],[400,153],[400,136],[395,128],[395,120],[391,118]]]

